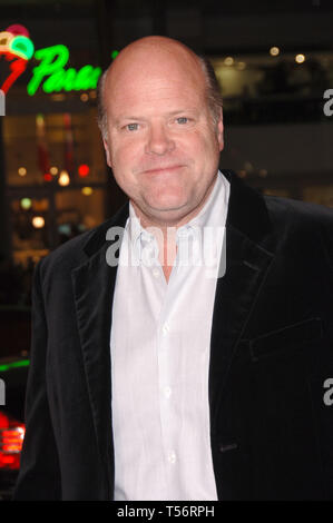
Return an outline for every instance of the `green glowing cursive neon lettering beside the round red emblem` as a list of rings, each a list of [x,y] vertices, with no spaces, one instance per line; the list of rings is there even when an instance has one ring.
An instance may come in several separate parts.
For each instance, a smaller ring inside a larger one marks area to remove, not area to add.
[[[45,92],[96,89],[101,75],[100,67],[84,66],[78,71],[74,68],[65,69],[69,50],[61,43],[39,49],[35,52],[35,58],[40,60],[40,63],[32,69],[32,78],[27,87],[30,96],[33,96],[40,86]]]

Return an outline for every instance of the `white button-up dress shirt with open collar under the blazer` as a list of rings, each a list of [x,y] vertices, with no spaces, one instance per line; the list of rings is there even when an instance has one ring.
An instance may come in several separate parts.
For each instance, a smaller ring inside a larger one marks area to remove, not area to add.
[[[110,337],[117,501],[217,499],[208,367],[228,195],[218,171],[203,209],[177,229],[168,283],[155,236],[129,206]]]

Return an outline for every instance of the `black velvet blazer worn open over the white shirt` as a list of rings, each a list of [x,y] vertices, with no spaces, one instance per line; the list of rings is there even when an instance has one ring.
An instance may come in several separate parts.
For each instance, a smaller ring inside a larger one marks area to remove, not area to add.
[[[332,500],[333,405],[324,384],[333,378],[333,211],[262,196],[224,175],[226,273],[216,285],[209,363],[218,497]],[[16,500],[112,499],[117,267],[106,263],[106,231],[127,217],[128,204],[36,269]]]

